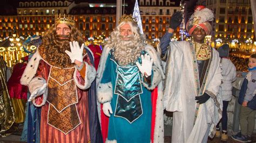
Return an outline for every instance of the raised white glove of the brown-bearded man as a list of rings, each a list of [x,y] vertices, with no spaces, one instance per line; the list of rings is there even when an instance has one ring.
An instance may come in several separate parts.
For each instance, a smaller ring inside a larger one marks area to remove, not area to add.
[[[71,52],[68,50],[65,51],[66,54],[69,55],[71,62],[75,62],[75,60],[83,62],[83,50],[84,44],[79,47],[79,43],[77,41],[69,42]]]

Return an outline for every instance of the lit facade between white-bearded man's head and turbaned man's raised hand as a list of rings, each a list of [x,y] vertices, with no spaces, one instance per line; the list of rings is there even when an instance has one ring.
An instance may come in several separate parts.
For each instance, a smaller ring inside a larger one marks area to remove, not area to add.
[[[142,18],[143,31],[147,39],[160,39],[166,32],[170,24],[172,14],[180,10],[170,0],[139,0],[140,17]],[[178,32],[174,37],[178,37]]]

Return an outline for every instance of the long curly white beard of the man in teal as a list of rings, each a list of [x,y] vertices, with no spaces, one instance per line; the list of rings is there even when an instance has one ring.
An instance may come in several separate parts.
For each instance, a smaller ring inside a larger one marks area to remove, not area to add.
[[[121,66],[134,65],[140,56],[143,47],[136,47],[136,42],[131,37],[130,40],[119,40],[114,47],[114,59]]]

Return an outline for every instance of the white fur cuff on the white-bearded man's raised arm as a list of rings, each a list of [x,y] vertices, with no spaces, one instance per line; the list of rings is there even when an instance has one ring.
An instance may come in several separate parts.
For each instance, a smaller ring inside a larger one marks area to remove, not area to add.
[[[142,80],[142,84],[144,85],[145,88],[149,89],[149,90],[153,90],[154,88],[157,87],[157,85],[160,83],[160,81],[162,80],[161,77],[161,71],[159,70],[159,68],[157,68],[156,66],[152,67],[152,72],[153,72],[153,79],[151,81],[151,85],[149,85],[148,83],[145,83]]]

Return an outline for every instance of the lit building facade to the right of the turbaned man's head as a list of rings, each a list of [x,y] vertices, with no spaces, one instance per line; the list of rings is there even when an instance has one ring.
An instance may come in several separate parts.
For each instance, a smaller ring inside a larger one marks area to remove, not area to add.
[[[207,0],[207,8],[215,13],[212,40],[222,40],[231,47],[252,49],[255,45],[250,0]],[[215,46],[219,47],[220,42]],[[254,45],[254,46],[253,46]]]

